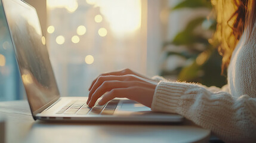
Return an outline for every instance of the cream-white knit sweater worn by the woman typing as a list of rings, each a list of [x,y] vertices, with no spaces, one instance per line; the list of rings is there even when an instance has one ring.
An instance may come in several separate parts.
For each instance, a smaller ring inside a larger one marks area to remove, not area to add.
[[[178,113],[225,142],[256,142],[256,23],[240,38],[223,88],[168,82],[156,86],[153,111]]]

